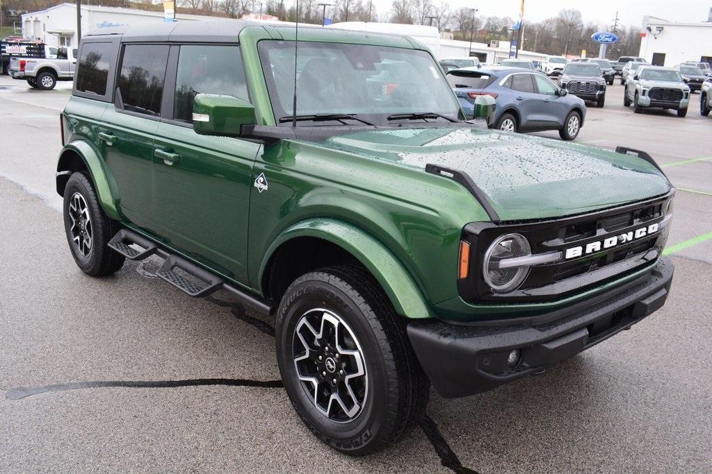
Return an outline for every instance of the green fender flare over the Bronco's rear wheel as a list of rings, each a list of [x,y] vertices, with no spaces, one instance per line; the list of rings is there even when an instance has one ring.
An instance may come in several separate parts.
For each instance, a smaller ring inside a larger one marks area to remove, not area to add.
[[[63,160],[68,156],[68,152],[76,153],[84,161],[89,170],[92,183],[94,183],[99,203],[104,209],[104,212],[106,212],[106,215],[113,220],[122,220],[118,199],[115,198],[115,196],[119,195],[116,183],[105,168],[103,161],[99,158],[97,151],[86,141],[72,141],[62,148],[57,164],[57,180],[59,181],[59,177],[67,170],[66,166],[63,166]],[[59,183],[57,184],[57,192],[59,193]]]

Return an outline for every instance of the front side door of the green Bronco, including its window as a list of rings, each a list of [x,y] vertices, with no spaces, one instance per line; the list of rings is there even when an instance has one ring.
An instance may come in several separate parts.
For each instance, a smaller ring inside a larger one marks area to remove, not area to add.
[[[192,128],[197,93],[248,100],[236,45],[172,46],[164,100],[153,150],[155,220],[174,249],[236,281],[246,282],[252,167],[261,145]],[[172,87],[174,84],[174,87]]]

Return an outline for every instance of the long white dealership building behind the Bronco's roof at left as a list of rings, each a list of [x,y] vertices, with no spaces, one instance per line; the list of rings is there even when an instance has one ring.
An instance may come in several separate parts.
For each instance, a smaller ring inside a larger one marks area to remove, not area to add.
[[[82,5],[82,31],[110,26],[139,25],[164,21],[162,11],[122,9],[113,6]],[[176,14],[176,20],[214,20],[214,16]],[[50,46],[76,48],[77,7],[60,4],[22,16],[22,36]]]

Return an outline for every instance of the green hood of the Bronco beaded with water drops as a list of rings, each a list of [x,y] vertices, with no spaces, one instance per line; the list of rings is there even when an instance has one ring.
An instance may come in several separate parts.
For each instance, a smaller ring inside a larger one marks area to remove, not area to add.
[[[642,158],[473,127],[357,131],[315,145],[423,173],[427,163],[467,173],[501,220],[574,215],[671,188]]]

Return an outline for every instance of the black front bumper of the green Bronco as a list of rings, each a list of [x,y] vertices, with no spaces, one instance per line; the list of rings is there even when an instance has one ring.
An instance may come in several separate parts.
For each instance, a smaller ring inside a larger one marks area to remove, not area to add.
[[[408,336],[426,375],[446,398],[486,392],[610,338],[663,306],[674,266],[662,257],[642,276],[568,308],[516,321],[414,321]],[[515,367],[509,352],[519,349]]]

